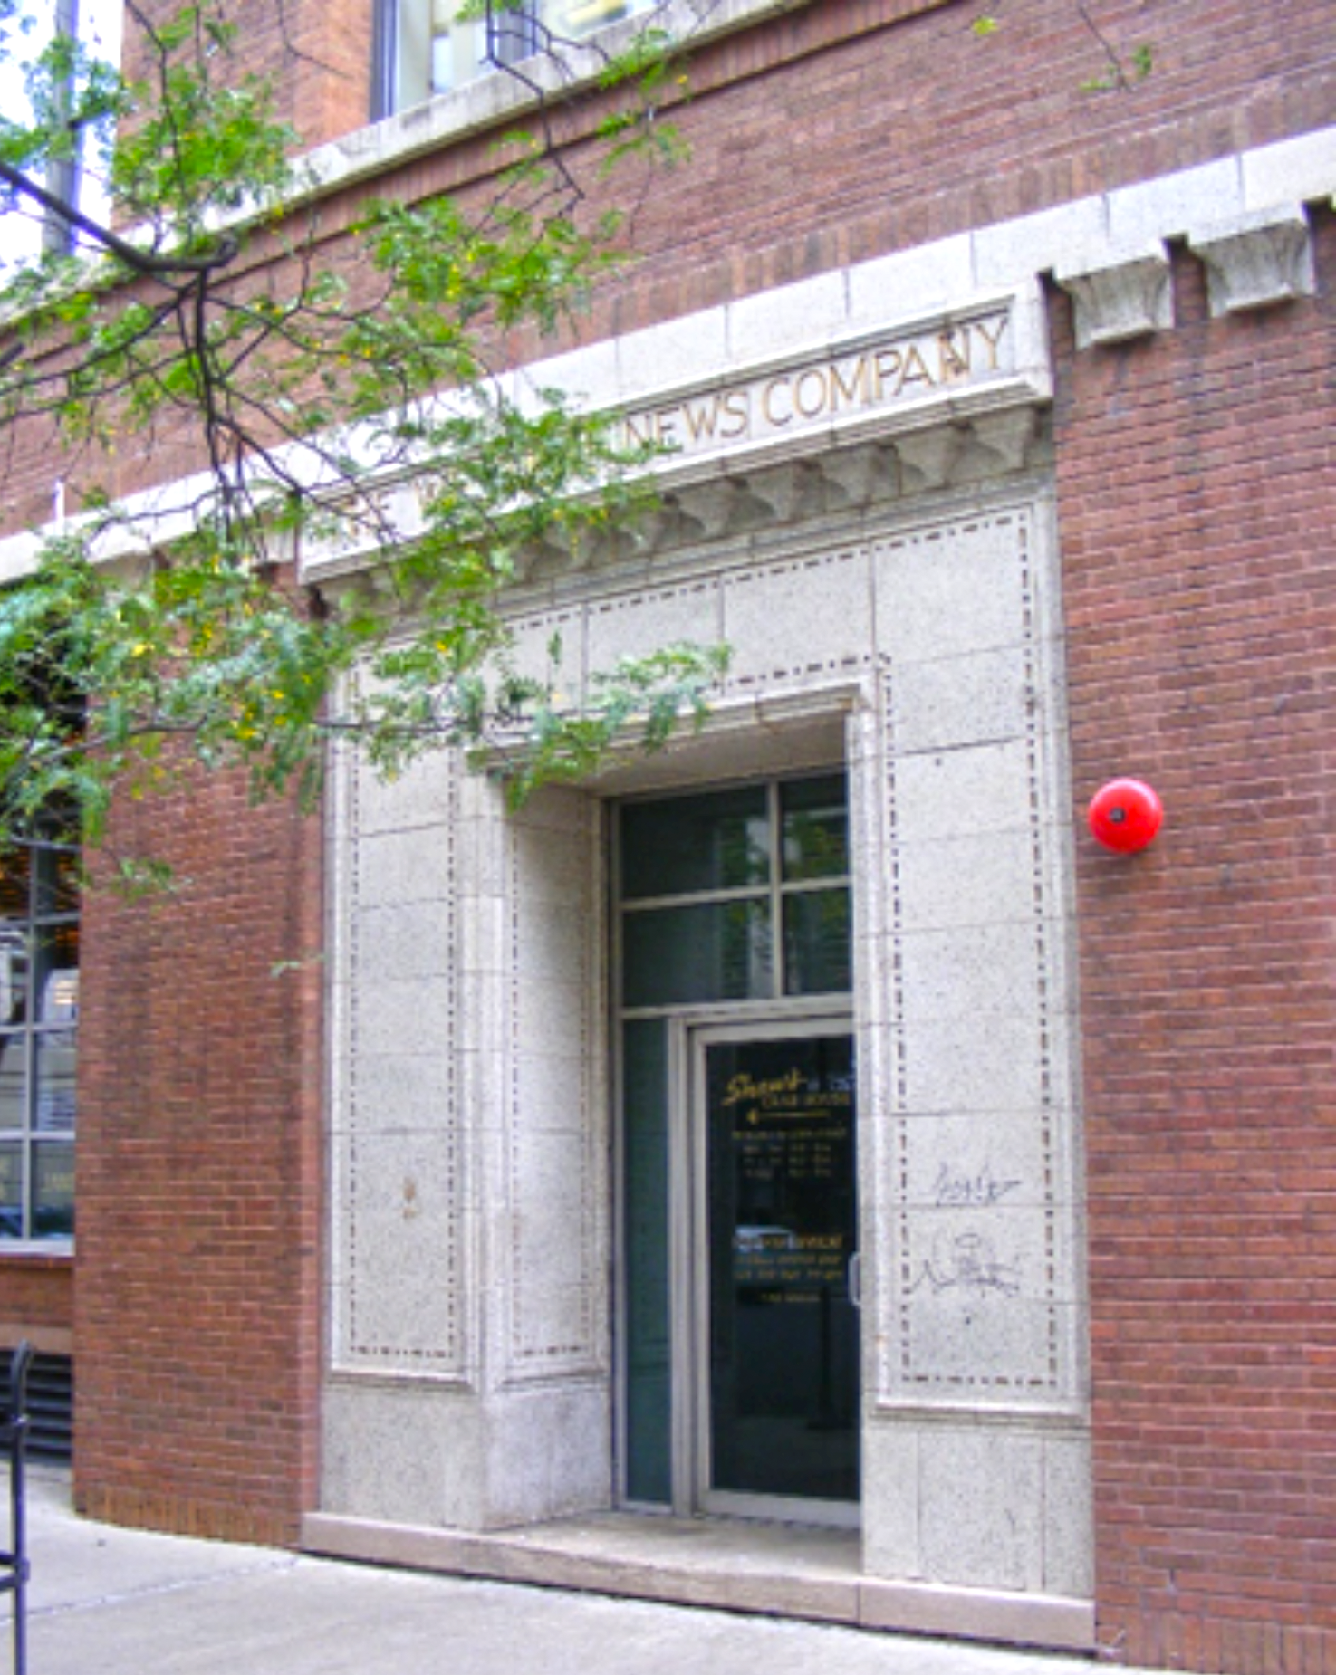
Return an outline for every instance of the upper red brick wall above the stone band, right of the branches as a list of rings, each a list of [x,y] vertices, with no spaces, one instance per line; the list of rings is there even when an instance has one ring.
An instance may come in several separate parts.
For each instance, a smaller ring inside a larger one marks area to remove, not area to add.
[[[1110,0],[1101,34],[1153,45],[1130,94],[1074,0],[915,17],[897,0],[808,5],[721,39],[691,65],[676,121],[692,161],[635,219],[654,255],[615,325],[706,307],[888,250],[1148,179],[1331,121],[1336,50],[1324,0],[1284,28],[1245,0]]]

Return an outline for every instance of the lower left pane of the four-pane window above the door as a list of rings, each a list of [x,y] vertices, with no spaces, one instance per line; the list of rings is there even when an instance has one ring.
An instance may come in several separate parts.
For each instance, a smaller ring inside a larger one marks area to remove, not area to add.
[[[763,1000],[771,993],[769,903],[655,908],[624,918],[624,1005]]]

